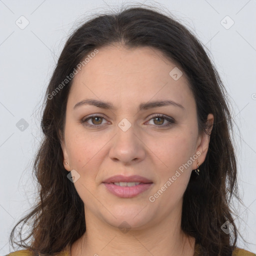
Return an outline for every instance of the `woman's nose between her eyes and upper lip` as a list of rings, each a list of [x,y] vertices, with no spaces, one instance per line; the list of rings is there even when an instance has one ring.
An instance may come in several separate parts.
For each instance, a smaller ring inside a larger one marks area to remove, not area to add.
[[[139,133],[135,131],[134,125],[131,125],[127,130],[120,127],[116,127],[116,135],[111,141],[109,157],[113,161],[119,161],[123,164],[143,160],[146,153],[145,145]]]

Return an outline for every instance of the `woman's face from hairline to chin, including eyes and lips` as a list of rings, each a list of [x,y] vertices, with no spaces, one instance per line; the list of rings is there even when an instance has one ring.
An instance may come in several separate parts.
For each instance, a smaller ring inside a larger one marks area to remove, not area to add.
[[[157,49],[120,45],[98,49],[75,74],[62,149],[85,219],[138,229],[180,216],[209,142],[198,134],[195,100],[180,75]],[[95,104],[82,103],[88,99]],[[112,183],[125,180],[133,183]]]

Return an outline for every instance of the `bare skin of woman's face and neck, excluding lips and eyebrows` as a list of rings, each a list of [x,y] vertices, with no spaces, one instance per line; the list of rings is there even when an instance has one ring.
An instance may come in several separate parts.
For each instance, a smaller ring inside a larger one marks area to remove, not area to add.
[[[198,133],[195,99],[184,74],[178,80],[169,75],[173,67],[157,49],[114,44],[100,48],[75,75],[61,146],[64,167],[80,175],[74,186],[84,202],[86,232],[72,244],[72,256],[193,255],[194,238],[180,228],[182,197],[197,160],[200,165],[205,159],[210,136]],[[116,109],[73,109],[88,98],[111,102]],[[140,103],[153,100],[173,100],[183,108],[167,105],[138,111]],[[99,127],[81,123],[91,114],[103,118],[85,123]],[[164,127],[168,120],[154,120],[153,114],[172,117],[174,123]],[[126,131],[118,126],[123,118],[131,124]],[[208,121],[213,123],[212,114]],[[198,158],[150,202],[149,196],[197,151]],[[119,198],[102,184],[116,174],[141,175],[153,184],[133,198]],[[127,232],[118,228],[123,221],[128,223]]]

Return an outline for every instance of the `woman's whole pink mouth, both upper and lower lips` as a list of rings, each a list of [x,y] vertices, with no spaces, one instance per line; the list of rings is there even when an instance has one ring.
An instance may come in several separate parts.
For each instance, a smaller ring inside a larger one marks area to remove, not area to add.
[[[141,184],[133,186],[119,186],[113,184],[112,182],[141,182]],[[102,183],[105,185],[105,187],[110,193],[121,198],[134,197],[149,189],[153,184],[153,182],[150,179],[138,175],[115,175],[105,179]]]

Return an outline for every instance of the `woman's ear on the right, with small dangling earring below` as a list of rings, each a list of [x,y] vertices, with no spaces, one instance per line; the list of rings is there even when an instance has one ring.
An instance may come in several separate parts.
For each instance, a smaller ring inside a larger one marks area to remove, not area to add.
[[[203,161],[205,160],[207,151],[208,151],[208,147],[209,147],[209,142],[210,142],[210,133],[213,127],[213,114],[209,113],[207,116],[207,128],[206,128],[206,132],[202,132],[202,134],[198,137],[197,139],[197,147],[196,147],[196,151],[199,151],[200,154],[198,153],[198,158],[196,161],[193,161],[192,164],[192,169],[196,169],[197,168],[197,161],[198,161],[198,166],[201,165],[203,163]]]

